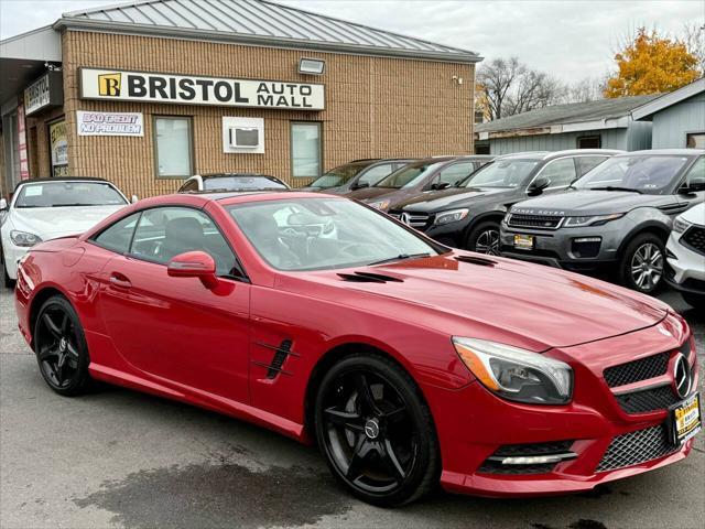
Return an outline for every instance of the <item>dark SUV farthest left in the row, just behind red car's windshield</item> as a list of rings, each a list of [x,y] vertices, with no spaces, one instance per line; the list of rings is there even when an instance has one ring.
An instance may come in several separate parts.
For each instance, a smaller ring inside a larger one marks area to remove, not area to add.
[[[412,159],[404,158],[354,160],[327,171],[300,191],[322,191],[324,193],[345,195],[355,190],[377,184],[388,174],[412,161]]]

